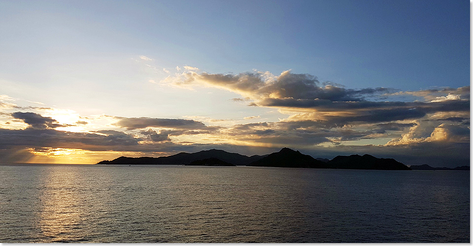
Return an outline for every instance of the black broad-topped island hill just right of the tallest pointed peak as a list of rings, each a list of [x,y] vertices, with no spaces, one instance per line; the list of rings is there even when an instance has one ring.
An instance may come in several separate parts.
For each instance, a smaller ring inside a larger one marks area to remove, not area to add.
[[[339,155],[327,162],[335,169],[411,170],[392,158],[376,158],[372,155]]]

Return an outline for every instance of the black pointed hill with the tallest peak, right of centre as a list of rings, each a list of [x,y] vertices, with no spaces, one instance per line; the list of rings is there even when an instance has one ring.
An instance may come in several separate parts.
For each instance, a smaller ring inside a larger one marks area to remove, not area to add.
[[[250,167],[278,167],[278,168],[330,168],[325,162],[314,159],[310,155],[304,155],[290,148],[283,148],[264,158],[254,161],[247,166]]]

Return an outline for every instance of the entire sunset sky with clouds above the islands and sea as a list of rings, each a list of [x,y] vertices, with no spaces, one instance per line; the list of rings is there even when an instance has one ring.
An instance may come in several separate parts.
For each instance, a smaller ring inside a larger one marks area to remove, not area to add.
[[[470,2],[0,0],[0,162],[470,165]]]

